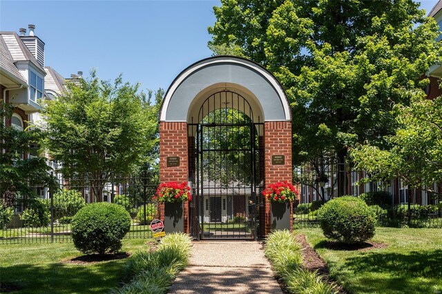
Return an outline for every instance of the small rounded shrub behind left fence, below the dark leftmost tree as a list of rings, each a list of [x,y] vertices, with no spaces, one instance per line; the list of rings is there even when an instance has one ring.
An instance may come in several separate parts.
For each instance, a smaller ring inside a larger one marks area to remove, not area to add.
[[[44,199],[32,200],[21,214],[23,226],[38,228],[50,224],[50,205]]]

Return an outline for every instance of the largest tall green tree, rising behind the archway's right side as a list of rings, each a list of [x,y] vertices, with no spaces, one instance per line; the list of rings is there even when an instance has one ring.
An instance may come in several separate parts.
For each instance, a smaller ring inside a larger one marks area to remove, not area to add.
[[[385,146],[397,126],[392,109],[410,104],[419,77],[441,56],[439,28],[412,0],[222,0],[209,47],[269,69],[293,112],[294,164],[338,156],[349,146]],[[338,181],[339,193],[345,191]]]

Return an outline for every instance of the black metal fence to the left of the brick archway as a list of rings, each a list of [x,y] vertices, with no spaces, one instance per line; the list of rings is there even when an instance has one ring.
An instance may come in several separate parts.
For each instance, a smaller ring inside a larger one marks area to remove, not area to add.
[[[156,189],[157,183],[149,178],[113,174],[99,179],[61,179],[55,191],[35,187],[39,197],[17,199],[9,218],[3,219],[0,242],[70,242],[73,216],[94,202],[119,204],[128,211],[132,224],[126,238],[152,237],[151,220],[159,217],[159,206],[153,199]]]

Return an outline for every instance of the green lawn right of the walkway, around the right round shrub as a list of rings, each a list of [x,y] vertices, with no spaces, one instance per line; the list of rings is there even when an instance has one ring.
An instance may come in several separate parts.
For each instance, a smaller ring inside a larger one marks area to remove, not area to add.
[[[367,251],[325,248],[320,228],[296,232],[307,236],[349,293],[442,293],[440,228],[376,228],[373,241],[387,247]]]

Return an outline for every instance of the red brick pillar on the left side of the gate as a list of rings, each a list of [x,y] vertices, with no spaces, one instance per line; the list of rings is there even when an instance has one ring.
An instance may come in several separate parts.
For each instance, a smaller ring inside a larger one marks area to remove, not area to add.
[[[160,182],[187,182],[189,175],[187,123],[160,122]],[[166,158],[180,157],[180,166],[167,167]],[[189,203],[184,202],[184,233],[189,233]],[[164,221],[164,204],[160,204],[160,219]]]

